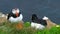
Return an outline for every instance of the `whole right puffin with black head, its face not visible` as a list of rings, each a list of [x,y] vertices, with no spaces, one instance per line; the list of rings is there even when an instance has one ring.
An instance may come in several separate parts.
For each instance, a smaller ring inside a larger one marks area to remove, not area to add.
[[[32,14],[31,18],[31,27],[35,29],[43,30],[46,27],[47,23],[42,18],[39,19],[36,14]]]

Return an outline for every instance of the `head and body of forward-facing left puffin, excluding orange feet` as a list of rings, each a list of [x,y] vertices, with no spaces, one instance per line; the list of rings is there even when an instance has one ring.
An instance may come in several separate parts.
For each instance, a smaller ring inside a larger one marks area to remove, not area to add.
[[[7,18],[10,22],[22,21],[23,15],[18,8],[12,9],[12,12],[8,14]]]

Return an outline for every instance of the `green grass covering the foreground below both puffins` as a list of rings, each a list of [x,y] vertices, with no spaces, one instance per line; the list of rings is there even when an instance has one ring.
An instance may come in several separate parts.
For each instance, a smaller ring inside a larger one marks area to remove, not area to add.
[[[24,28],[17,30],[10,22],[4,22],[0,25],[0,34],[60,34],[60,27],[45,28],[44,30],[36,30],[30,27],[30,22],[24,23]]]

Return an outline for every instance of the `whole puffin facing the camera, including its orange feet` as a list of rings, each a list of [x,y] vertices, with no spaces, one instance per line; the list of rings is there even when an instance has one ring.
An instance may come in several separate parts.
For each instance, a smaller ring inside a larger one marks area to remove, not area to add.
[[[12,9],[12,12],[8,14],[7,20],[10,21],[11,23],[18,23],[16,25],[17,29],[22,29],[23,28],[23,15],[19,11],[18,8]]]

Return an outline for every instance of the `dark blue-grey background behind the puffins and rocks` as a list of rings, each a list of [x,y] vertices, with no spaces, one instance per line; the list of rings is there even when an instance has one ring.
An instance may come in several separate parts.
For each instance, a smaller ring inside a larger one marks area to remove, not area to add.
[[[0,11],[5,14],[16,7],[22,12],[24,21],[31,21],[31,15],[35,13],[39,18],[47,16],[60,23],[60,0],[0,0]]]

